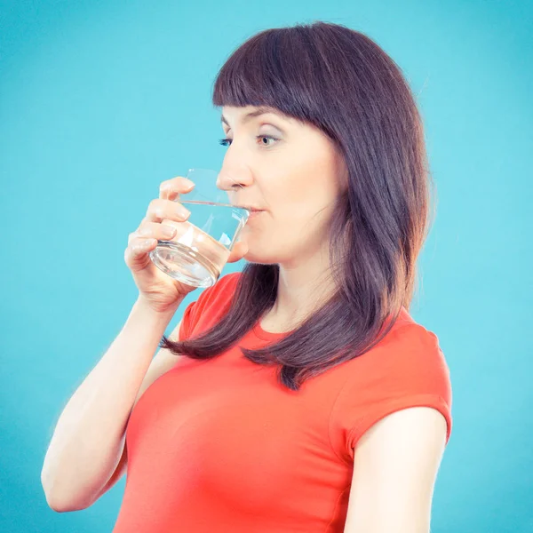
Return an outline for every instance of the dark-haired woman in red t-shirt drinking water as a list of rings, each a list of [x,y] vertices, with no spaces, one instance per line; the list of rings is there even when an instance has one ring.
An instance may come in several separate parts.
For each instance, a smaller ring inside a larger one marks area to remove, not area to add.
[[[316,22],[251,37],[213,103],[217,185],[261,211],[230,258],[249,263],[203,290],[150,362],[192,290],[147,256],[164,218],[187,217],[168,211],[186,180],[164,184],[126,251],[139,300],[52,439],[49,503],[91,505],[127,463],[115,533],[426,533],[451,387],[408,312],[430,212],[410,88],[369,37]],[[84,431],[68,430],[82,406]]]

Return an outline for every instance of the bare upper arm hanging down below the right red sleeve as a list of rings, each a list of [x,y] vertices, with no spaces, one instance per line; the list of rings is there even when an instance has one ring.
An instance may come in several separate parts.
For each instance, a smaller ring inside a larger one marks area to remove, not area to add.
[[[354,449],[345,533],[429,533],[446,419],[413,407],[381,419]]]

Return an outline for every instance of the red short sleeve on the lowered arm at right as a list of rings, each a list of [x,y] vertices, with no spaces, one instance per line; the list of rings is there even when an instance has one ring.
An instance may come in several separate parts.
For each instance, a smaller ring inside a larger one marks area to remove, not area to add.
[[[449,367],[437,336],[413,322],[386,343],[348,363],[349,375],[331,410],[330,442],[338,457],[353,462],[354,447],[371,426],[395,411],[431,407],[451,434]]]

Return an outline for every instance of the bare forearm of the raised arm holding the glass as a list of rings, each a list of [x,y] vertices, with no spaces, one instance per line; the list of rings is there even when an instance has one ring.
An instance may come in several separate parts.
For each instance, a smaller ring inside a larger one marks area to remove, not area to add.
[[[68,401],[44,458],[42,482],[49,502],[90,500],[114,472],[132,406],[174,312],[155,313],[138,299]]]

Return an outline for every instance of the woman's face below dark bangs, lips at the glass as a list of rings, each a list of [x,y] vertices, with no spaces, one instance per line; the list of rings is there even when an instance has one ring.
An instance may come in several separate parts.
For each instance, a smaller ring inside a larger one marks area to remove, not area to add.
[[[223,107],[227,153],[217,187],[231,203],[260,210],[241,240],[244,259],[296,267],[323,250],[335,201],[346,188],[346,166],[318,129],[275,109]],[[249,114],[253,115],[249,115]]]

